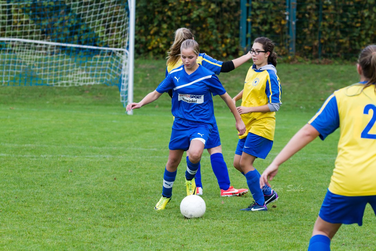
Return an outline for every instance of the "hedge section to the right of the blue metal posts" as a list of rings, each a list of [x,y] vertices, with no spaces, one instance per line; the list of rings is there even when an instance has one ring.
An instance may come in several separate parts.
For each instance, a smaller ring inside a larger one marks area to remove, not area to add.
[[[302,57],[353,58],[376,42],[375,0],[301,0],[297,19],[296,53]]]

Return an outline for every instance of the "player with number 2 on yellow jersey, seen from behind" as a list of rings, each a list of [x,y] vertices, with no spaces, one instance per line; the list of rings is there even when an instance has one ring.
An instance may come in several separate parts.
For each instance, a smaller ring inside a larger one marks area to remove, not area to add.
[[[308,250],[330,250],[342,224],[358,223],[367,203],[376,214],[376,45],[359,55],[360,82],[335,91],[265,169],[260,186],[317,136],[324,140],[340,127],[335,168],[313,228]]]

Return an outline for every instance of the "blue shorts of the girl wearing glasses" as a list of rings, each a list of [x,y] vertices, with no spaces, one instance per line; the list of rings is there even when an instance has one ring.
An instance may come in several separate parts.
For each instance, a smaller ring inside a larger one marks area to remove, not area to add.
[[[243,152],[265,159],[273,146],[273,140],[261,137],[248,132],[246,138],[240,138],[235,150],[235,154],[241,155]]]

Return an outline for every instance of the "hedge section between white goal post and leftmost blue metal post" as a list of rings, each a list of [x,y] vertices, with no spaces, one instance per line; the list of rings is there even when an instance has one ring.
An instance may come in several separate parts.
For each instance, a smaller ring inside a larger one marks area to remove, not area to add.
[[[216,58],[239,55],[239,23],[238,1],[136,1],[136,56],[166,57],[180,27],[192,30],[201,52]]]

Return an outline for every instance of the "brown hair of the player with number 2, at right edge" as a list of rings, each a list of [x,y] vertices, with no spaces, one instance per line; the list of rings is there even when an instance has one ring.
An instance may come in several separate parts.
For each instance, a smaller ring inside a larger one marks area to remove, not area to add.
[[[362,68],[364,78],[367,79],[364,88],[376,83],[376,45],[365,47],[359,54],[358,64]],[[375,84],[376,91],[376,84]]]

